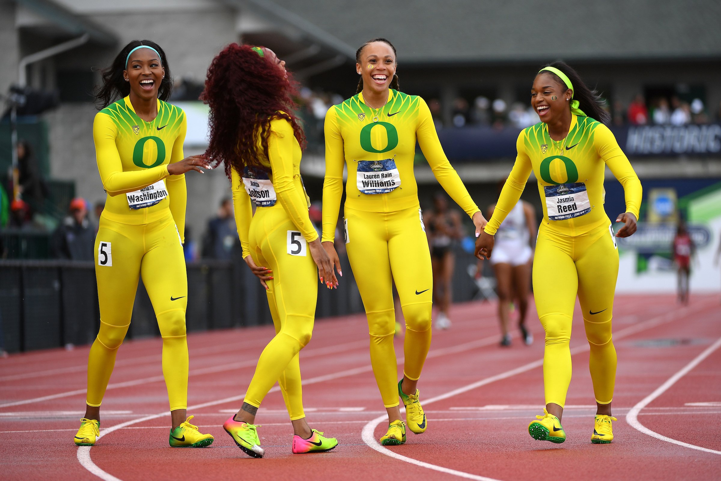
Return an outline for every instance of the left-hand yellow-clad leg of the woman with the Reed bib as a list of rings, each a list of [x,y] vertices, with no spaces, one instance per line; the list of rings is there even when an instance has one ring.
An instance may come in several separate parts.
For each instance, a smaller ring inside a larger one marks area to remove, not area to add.
[[[561,418],[571,381],[571,323],[578,275],[570,257],[572,239],[541,231],[533,281],[536,309],[546,331],[544,391],[550,414]]]

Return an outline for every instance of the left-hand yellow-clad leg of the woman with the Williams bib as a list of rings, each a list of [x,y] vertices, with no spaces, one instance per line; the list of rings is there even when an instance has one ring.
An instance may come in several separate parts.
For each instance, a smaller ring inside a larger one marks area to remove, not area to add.
[[[393,347],[395,316],[386,216],[385,213],[345,208],[345,219],[348,221],[348,244],[346,244],[348,260],[368,317],[371,366],[381,392],[381,399],[386,410],[389,411],[389,420],[393,421],[400,419],[400,410],[397,388],[398,367]],[[428,242],[426,242],[426,252],[428,252]],[[430,260],[428,264],[430,270]],[[433,286],[430,286],[429,282],[427,292],[429,299],[432,291]],[[403,296],[400,299],[402,301]],[[403,314],[408,325],[408,314],[405,309]],[[407,329],[406,340],[409,335],[412,333]]]

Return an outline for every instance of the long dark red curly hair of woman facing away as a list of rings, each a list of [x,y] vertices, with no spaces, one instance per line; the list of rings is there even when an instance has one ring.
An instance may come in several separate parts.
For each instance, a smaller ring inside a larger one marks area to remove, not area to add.
[[[303,128],[292,113],[298,107],[293,101],[296,82],[252,48],[231,43],[218,53],[208,68],[205,90],[200,96],[211,107],[208,119],[211,138],[205,155],[215,162],[214,167],[224,162],[229,178],[231,168],[241,174],[248,166],[262,168],[260,159],[268,159],[273,119],[288,120],[301,149],[306,143]],[[258,151],[258,135],[262,152]]]

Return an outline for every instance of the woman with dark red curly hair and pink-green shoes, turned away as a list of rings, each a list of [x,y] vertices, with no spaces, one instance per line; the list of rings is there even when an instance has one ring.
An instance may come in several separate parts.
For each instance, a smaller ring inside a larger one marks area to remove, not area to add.
[[[303,412],[298,352],[313,332],[314,279],[320,275],[329,288],[337,279],[308,216],[300,175],[305,138],[290,113],[295,88],[285,65],[273,50],[231,43],[213,59],[203,93],[211,107],[206,155],[216,165],[223,162],[231,179],[243,258],[266,289],[275,325],[242,407],[223,425],[238,447],[256,458],[264,451],[255,414],[276,381],[293,423],[293,453],[329,451],[338,444],[311,429]]]

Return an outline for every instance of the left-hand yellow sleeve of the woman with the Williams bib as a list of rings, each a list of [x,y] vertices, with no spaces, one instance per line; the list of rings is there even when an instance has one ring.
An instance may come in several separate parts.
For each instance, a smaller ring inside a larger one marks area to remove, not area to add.
[[[335,240],[340,199],[343,195],[343,166],[345,152],[343,137],[337,124],[335,107],[325,115],[325,179],[323,180],[323,237],[322,242]]]

